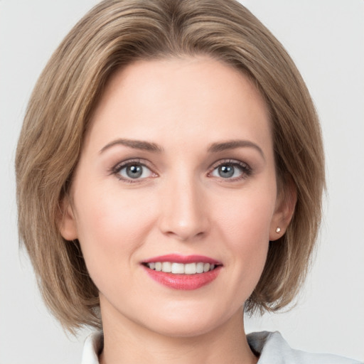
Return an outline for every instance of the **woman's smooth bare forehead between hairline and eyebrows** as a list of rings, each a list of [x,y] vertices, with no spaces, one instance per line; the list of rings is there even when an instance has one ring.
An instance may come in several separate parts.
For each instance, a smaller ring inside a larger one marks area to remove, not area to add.
[[[158,142],[170,133],[171,141],[245,137],[267,144],[269,125],[257,87],[230,65],[208,57],[139,60],[110,78],[89,137],[98,144],[115,133]]]

